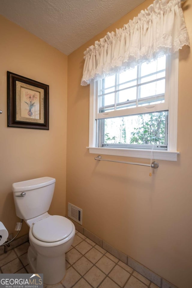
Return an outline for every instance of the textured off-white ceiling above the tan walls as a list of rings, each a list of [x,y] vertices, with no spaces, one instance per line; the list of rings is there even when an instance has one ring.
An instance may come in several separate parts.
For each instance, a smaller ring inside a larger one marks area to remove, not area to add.
[[[0,14],[69,55],[144,1],[0,0]]]

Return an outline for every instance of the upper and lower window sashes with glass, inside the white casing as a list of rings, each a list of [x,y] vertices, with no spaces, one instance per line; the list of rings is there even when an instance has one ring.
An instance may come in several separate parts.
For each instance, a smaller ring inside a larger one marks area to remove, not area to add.
[[[98,81],[99,147],[167,149],[166,58]]]

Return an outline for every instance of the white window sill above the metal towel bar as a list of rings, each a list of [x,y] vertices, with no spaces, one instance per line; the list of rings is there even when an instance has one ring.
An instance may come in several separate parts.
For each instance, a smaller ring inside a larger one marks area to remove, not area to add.
[[[167,160],[177,161],[177,155],[180,152],[177,151],[158,151],[158,150],[140,150],[140,149],[120,149],[120,148],[98,148],[98,147],[86,147],[89,149],[89,153],[102,154],[102,155],[114,155],[114,156],[125,156],[134,158],[147,158],[154,160]]]

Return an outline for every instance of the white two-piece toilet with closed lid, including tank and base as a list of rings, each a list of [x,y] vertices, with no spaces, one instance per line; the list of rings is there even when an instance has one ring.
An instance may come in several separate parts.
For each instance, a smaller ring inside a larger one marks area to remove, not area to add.
[[[29,229],[29,265],[34,273],[43,273],[44,283],[54,285],[65,275],[65,253],[75,235],[73,223],[48,210],[55,188],[55,179],[43,177],[13,183],[16,215]]]

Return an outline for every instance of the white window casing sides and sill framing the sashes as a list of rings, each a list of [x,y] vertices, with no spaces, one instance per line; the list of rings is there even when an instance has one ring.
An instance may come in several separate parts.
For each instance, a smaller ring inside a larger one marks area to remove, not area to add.
[[[147,158],[155,160],[177,161],[177,115],[178,115],[178,79],[179,79],[179,52],[170,55],[169,73],[169,121],[168,121],[168,146],[167,150],[107,148],[97,147],[97,85],[92,80],[89,98],[89,153]],[[166,80],[167,81],[167,80]],[[166,82],[167,85],[167,82]]]

